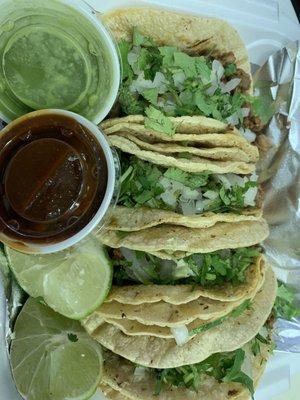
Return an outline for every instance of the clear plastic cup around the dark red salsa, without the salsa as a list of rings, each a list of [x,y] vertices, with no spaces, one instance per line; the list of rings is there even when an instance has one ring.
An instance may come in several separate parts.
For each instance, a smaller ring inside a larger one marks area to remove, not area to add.
[[[2,242],[24,253],[49,254],[62,251],[81,242],[88,235],[98,233],[103,228],[103,225],[105,224],[105,219],[108,216],[110,209],[115,206],[119,194],[120,166],[117,153],[109,146],[106,136],[99,129],[99,127],[87,120],[86,118],[82,117],[81,115],[75,114],[71,111],[58,109],[34,111],[8,124],[1,131],[1,135],[5,135],[8,131],[13,131],[14,127],[24,123],[25,121],[29,121],[29,123],[33,125],[36,118],[47,115],[51,115],[51,117],[53,115],[57,115],[71,118],[78,122],[94,137],[94,139],[96,139],[105,156],[105,161],[107,165],[107,185],[102,202],[92,219],[90,219],[89,222],[80,231],[73,234],[71,237],[54,243],[38,243],[25,237],[23,241],[13,240],[12,238],[6,237],[3,233],[1,233],[0,240]]]

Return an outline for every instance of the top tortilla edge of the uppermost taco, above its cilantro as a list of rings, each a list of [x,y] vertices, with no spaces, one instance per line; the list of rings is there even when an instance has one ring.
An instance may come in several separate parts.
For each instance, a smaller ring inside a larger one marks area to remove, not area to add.
[[[247,49],[237,31],[227,22],[201,16],[174,13],[161,8],[122,8],[100,15],[119,42],[131,40],[134,27],[159,46],[177,46],[189,53],[218,50],[233,52],[238,68],[251,76]]]

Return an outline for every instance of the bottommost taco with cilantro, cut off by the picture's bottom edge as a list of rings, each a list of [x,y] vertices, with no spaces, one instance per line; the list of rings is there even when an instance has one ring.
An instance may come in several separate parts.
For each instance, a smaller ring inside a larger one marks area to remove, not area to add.
[[[258,336],[234,352],[176,369],[145,368],[105,351],[100,388],[111,400],[249,400],[271,347]]]

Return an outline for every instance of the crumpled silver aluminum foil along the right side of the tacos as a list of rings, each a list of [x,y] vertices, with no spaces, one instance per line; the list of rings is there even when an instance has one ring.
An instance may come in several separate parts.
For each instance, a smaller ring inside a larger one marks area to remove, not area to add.
[[[257,94],[275,114],[259,139],[270,236],[264,248],[277,277],[294,287],[300,300],[300,42],[273,54],[254,76]],[[279,320],[277,349],[300,352],[300,319]]]

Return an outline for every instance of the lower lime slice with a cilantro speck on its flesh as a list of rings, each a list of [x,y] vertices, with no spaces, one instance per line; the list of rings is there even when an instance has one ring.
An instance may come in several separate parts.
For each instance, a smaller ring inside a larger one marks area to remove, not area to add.
[[[16,386],[26,400],[85,400],[102,375],[101,347],[69,320],[29,298],[11,345]]]

